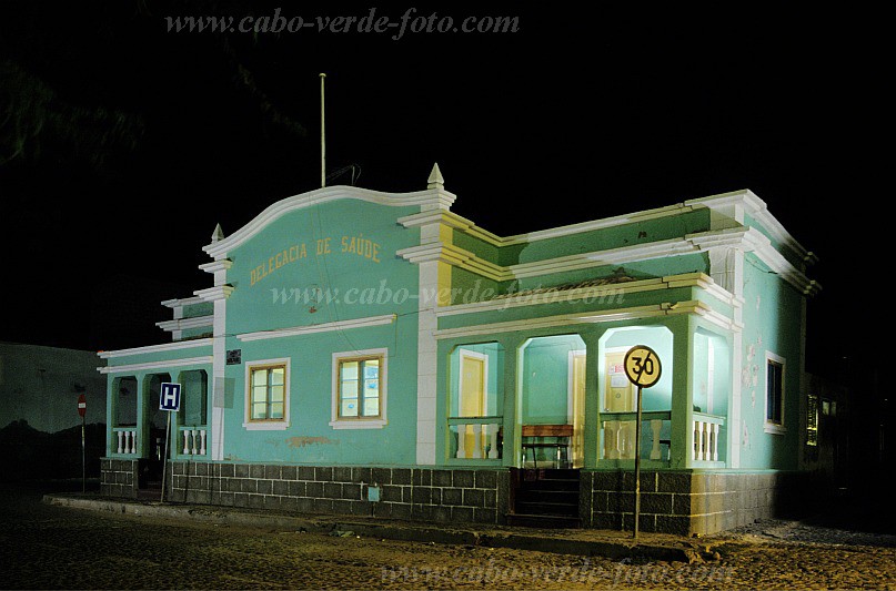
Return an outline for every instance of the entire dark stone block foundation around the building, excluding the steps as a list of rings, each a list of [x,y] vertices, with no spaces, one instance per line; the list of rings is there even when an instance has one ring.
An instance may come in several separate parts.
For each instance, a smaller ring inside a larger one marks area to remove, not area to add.
[[[101,492],[138,496],[138,460],[102,459]],[[709,534],[793,513],[806,475],[779,471],[644,471],[640,530]],[[303,513],[439,523],[506,523],[510,470],[314,467],[172,461],[165,498]],[[634,529],[634,472],[582,470],[585,528]]]

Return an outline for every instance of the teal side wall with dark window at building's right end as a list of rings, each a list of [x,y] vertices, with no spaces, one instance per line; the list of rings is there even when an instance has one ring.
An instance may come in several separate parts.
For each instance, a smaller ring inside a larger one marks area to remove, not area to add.
[[[799,324],[803,296],[753,254],[744,265],[741,467],[795,469],[799,445]],[[766,351],[785,359],[783,435],[764,432]]]

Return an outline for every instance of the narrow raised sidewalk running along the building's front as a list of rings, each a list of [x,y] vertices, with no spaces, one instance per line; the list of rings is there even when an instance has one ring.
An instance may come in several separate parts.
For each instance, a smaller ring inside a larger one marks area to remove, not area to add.
[[[401,541],[537,550],[558,554],[641,558],[667,562],[713,559],[713,550],[696,539],[663,533],[594,529],[535,529],[492,524],[433,524],[356,516],[272,513],[207,505],[112,499],[91,493],[50,493],[43,502],[59,507],[163,519],[192,519],[281,531],[360,536]]]

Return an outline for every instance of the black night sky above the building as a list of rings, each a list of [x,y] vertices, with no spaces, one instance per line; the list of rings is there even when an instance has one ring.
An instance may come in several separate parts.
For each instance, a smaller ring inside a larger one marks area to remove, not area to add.
[[[886,240],[884,17],[603,4],[282,3],[312,22],[373,8],[392,22],[411,8],[519,19],[393,39],[167,31],[165,17],[239,21],[278,3],[2,2],[0,339],[161,342],[158,302],[210,285],[197,266],[217,223],[231,233],[319,186],[326,72],[329,170],[404,192],[437,161],[453,210],[500,235],[753,190],[821,258],[811,369],[854,355],[879,329],[855,289]]]

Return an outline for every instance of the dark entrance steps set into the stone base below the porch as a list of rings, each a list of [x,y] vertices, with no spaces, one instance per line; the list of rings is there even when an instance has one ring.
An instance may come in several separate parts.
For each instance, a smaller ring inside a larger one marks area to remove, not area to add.
[[[578,470],[541,468],[515,472],[507,523],[530,528],[581,528]]]

